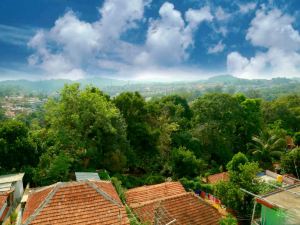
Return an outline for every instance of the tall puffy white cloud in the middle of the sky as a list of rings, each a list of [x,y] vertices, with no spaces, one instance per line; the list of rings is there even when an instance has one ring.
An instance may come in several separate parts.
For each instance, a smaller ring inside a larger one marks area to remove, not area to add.
[[[135,62],[139,65],[171,65],[188,57],[193,45],[193,33],[204,21],[212,21],[209,7],[189,9],[185,20],[174,5],[165,2],[159,10],[160,18],[152,20],[147,32],[145,49]]]

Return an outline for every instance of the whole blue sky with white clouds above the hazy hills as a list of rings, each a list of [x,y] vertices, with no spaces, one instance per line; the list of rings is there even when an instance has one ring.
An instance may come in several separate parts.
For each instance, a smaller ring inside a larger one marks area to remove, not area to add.
[[[0,79],[300,77],[298,0],[1,0]]]

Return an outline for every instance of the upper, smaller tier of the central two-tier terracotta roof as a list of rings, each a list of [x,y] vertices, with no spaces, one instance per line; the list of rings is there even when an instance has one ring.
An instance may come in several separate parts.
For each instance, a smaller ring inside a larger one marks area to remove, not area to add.
[[[180,182],[165,182],[129,189],[126,192],[126,202],[128,204],[141,203],[182,193],[186,191]]]

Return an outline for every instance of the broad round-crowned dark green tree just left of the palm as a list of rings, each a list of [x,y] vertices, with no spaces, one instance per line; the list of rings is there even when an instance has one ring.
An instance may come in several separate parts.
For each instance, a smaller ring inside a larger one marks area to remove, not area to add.
[[[202,149],[219,163],[226,163],[235,151],[242,108],[237,98],[228,94],[207,94],[192,104],[192,133]]]

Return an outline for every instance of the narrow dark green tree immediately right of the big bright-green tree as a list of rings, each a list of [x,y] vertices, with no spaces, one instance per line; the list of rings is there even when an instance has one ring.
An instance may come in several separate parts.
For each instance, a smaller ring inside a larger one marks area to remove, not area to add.
[[[159,134],[151,126],[145,99],[138,92],[124,92],[114,98],[127,123],[127,138],[133,150],[129,165],[151,170],[158,154]]]

